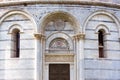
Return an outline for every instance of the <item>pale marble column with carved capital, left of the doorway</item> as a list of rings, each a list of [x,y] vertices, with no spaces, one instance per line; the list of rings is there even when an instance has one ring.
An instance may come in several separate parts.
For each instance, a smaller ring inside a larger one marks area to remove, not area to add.
[[[45,36],[41,33],[35,33],[34,36],[36,38],[35,80],[43,80],[43,42]]]

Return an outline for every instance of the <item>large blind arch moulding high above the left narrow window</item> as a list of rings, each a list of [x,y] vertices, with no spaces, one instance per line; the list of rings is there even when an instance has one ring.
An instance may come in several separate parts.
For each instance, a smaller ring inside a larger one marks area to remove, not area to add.
[[[35,20],[33,19],[33,17],[32,17],[28,12],[22,11],[22,10],[10,10],[10,11],[7,11],[6,13],[4,13],[4,14],[1,16],[0,25],[2,24],[2,22],[3,22],[7,17],[9,17],[10,15],[14,15],[14,14],[20,14],[20,15],[26,16],[26,17],[27,17],[28,19],[30,19],[30,21],[33,23],[35,32],[37,31],[37,24],[36,24]]]

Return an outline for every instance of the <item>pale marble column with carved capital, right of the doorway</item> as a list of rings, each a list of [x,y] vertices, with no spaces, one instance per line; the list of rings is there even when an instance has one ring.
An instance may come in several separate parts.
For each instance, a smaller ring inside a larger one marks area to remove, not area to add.
[[[74,36],[76,41],[76,80],[84,80],[84,34]]]

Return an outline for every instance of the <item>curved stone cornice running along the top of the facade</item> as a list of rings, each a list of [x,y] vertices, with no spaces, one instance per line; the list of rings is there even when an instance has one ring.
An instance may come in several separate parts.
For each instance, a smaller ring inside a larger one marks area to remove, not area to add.
[[[70,5],[92,5],[92,6],[105,6],[112,8],[120,8],[120,4],[107,3],[107,2],[92,2],[92,1],[11,1],[0,2],[0,7],[5,6],[18,6],[18,5],[34,5],[34,4],[70,4]]]

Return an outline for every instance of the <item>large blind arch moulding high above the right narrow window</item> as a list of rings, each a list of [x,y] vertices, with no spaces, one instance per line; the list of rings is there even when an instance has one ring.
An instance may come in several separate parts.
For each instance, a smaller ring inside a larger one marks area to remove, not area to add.
[[[84,23],[84,26],[83,26],[83,29],[82,29],[83,33],[86,33],[86,32],[85,32],[85,29],[86,29],[86,27],[87,27],[87,24],[88,24],[89,20],[90,20],[92,17],[94,17],[94,16],[96,16],[96,15],[99,15],[99,14],[103,14],[103,15],[109,16],[111,19],[113,19],[113,21],[115,21],[115,23],[116,23],[116,25],[117,25],[117,29],[118,29],[118,31],[119,31],[119,36],[120,36],[120,23],[119,23],[118,18],[117,18],[114,14],[112,14],[112,13],[110,13],[110,12],[108,12],[108,11],[103,11],[103,10],[93,12],[93,13],[86,19],[86,21],[85,21],[85,23]]]

